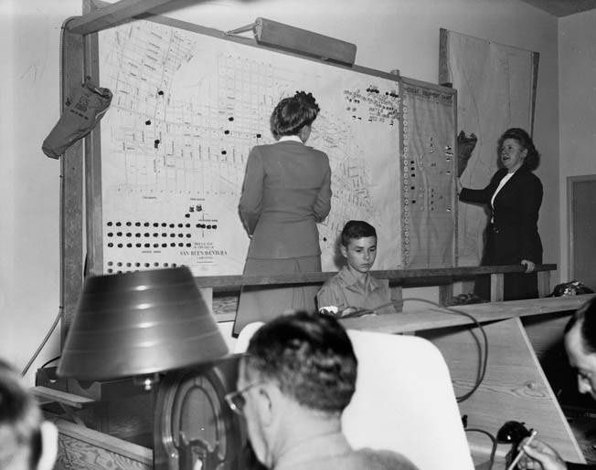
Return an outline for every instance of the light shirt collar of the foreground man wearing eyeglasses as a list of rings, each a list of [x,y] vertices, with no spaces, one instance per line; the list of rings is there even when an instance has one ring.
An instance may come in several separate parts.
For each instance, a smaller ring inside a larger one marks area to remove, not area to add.
[[[286,454],[280,457],[274,470],[308,468],[308,462],[317,462],[350,452],[352,452],[352,448],[348,444],[346,436],[341,432],[314,435],[294,444]]]

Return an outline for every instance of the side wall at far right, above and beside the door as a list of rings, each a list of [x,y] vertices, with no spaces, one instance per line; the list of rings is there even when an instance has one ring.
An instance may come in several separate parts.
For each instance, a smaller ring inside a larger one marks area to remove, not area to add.
[[[561,278],[569,273],[567,179],[596,175],[596,11],[559,20]]]

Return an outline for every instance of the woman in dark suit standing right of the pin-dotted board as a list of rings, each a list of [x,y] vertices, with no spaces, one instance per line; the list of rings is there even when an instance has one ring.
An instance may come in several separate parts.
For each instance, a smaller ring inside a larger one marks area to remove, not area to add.
[[[542,263],[542,242],[538,235],[538,211],[542,204],[542,183],[532,172],[540,154],[527,131],[512,128],[499,138],[500,168],[484,189],[462,188],[460,201],[488,204],[482,266],[517,265],[525,273],[505,275],[504,300],[537,298],[536,265]],[[459,183],[459,181],[458,181]],[[474,293],[490,298],[490,282],[479,278]]]

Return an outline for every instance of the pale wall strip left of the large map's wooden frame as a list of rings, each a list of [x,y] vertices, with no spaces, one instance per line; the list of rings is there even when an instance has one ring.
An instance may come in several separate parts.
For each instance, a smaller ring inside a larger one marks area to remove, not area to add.
[[[0,1],[0,357],[19,370],[59,313],[60,162],[41,142],[59,119],[60,26],[80,12],[80,0]],[[28,377],[58,354],[59,328]]]

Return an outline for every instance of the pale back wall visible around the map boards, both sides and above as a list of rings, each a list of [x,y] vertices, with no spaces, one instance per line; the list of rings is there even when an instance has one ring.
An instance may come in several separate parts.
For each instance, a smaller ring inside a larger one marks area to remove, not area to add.
[[[187,5],[190,2],[178,2]],[[59,162],[40,145],[59,117],[59,29],[81,0],[0,0],[2,87],[0,356],[23,367],[59,307]],[[558,20],[517,0],[253,0],[198,3],[169,16],[229,30],[262,16],[357,44],[357,64],[436,83],[441,27],[540,53],[534,137],[545,156],[539,229],[559,263]],[[4,75],[4,74],[3,74]],[[558,279],[555,279],[557,281]],[[55,355],[56,335],[34,365]]]

